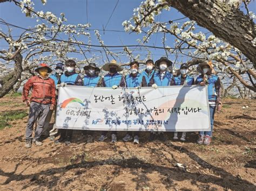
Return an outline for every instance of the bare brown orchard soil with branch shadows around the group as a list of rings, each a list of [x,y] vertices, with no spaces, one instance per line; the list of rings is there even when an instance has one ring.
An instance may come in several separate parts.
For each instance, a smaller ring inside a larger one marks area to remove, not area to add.
[[[185,143],[86,143],[76,132],[71,145],[45,139],[43,146],[24,147],[28,107],[20,95],[0,100],[0,190],[256,190],[256,101],[225,98],[215,114],[210,146],[196,144],[197,133]],[[242,107],[248,108],[242,109]],[[179,135],[180,136],[180,135]],[[99,132],[95,133],[95,139]],[[186,170],[176,167],[176,163]]]

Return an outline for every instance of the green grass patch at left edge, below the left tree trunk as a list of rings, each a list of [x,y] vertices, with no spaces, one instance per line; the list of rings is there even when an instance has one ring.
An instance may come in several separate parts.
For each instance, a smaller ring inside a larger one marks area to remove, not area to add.
[[[9,122],[22,119],[28,115],[27,111],[4,111],[0,113],[0,129],[10,127]]]

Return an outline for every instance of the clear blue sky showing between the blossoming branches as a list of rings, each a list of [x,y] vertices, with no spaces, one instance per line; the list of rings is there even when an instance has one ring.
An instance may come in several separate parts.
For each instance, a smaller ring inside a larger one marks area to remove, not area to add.
[[[103,26],[105,30],[116,30],[119,32],[113,31],[100,31],[102,35],[102,39],[104,40],[105,45],[137,45],[137,39],[141,38],[142,34],[136,33],[127,33],[124,32],[122,23],[124,20],[130,19],[133,15],[133,9],[137,8],[142,0],[48,0],[45,5],[41,3],[39,0],[35,0],[35,10],[40,11],[43,10],[51,11],[55,13],[58,17],[60,17],[60,13],[64,12],[65,17],[68,19],[66,24],[86,24],[87,22],[91,23],[90,29],[97,29],[103,30]],[[118,3],[117,3],[118,2]],[[116,9],[113,12],[114,7]],[[256,3],[252,1],[251,4],[248,6],[250,11],[256,12]],[[86,11],[87,10],[87,11]],[[111,16],[111,13],[112,17]],[[174,20],[183,18],[180,12],[176,9],[171,8],[170,11],[164,11],[160,16],[157,17],[159,21],[167,21],[167,20]],[[14,3],[1,3],[0,4],[0,18],[4,19],[5,22],[21,26],[24,28],[28,28],[29,26],[33,27],[37,25],[35,18],[25,17],[25,14],[21,12],[21,9],[14,5]],[[110,20],[109,20],[110,19]],[[109,20],[109,23],[107,23]],[[185,22],[186,19],[180,19],[177,22]],[[4,29],[3,25],[0,25],[2,29]],[[197,30],[202,32],[207,32],[207,30],[203,29],[202,27],[197,26]],[[21,33],[20,29],[13,28],[12,31],[13,36],[17,36]],[[94,32],[91,31],[92,37],[92,44],[99,45],[97,39],[95,38]],[[158,33],[152,36],[152,39],[148,45],[152,46],[161,46],[161,38],[163,34]],[[63,37],[66,38],[67,37]],[[170,47],[174,47],[174,37],[167,36],[166,45]],[[86,43],[86,42],[85,42]],[[5,45],[0,42],[0,48],[4,47]],[[5,47],[6,48],[6,47]],[[117,48],[116,48],[117,49]],[[119,48],[122,49],[122,48]],[[152,59],[158,60],[161,56],[165,55],[165,51],[163,49],[154,49],[151,48],[150,51],[152,52]],[[141,59],[144,59],[147,52],[143,51],[134,51],[134,55],[140,54],[142,55]],[[69,56],[76,57],[77,59],[84,59],[82,54],[70,54]],[[90,58],[90,53],[86,53],[86,56]],[[173,61],[176,56],[169,55],[170,59]],[[178,56],[178,61],[185,62],[191,58],[187,56]],[[122,58],[122,61],[127,62],[129,61],[128,58]],[[102,60],[99,60],[99,64],[102,65]]]

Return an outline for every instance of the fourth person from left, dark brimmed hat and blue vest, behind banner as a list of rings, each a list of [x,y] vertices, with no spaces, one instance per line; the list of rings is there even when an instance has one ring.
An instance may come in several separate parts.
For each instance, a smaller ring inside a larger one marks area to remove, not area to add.
[[[99,76],[100,69],[96,67],[96,63],[89,63],[88,66],[84,67],[86,75],[84,76],[83,83],[87,87],[100,87],[101,77]],[[92,131],[87,131],[87,143],[93,142]]]

